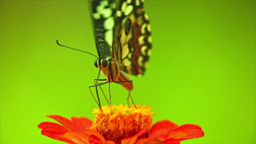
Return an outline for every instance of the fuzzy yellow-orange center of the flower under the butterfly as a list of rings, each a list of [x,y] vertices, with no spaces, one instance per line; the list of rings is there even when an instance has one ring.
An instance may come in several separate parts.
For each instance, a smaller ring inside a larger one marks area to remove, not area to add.
[[[123,138],[134,136],[146,128],[149,133],[152,124],[152,108],[136,105],[137,109],[128,105],[102,106],[102,110],[94,108],[94,122],[90,129],[97,130],[106,140],[113,140],[120,143]]]

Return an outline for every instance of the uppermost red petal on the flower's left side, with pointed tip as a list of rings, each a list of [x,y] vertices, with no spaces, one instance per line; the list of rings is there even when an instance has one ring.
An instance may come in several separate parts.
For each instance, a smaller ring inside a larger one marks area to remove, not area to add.
[[[58,122],[60,122],[61,124],[63,124],[64,126],[66,126],[72,131],[88,130],[89,127],[92,126],[92,120],[84,117],[80,117],[80,118],[72,117],[71,118],[72,120],[69,120],[67,118],[64,118],[58,115],[50,115],[47,117],[57,120]]]

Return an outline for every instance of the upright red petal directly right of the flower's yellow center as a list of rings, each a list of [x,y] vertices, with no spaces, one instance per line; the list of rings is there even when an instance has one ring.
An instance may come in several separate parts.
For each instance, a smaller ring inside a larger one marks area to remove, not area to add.
[[[164,140],[175,128],[178,128],[178,124],[175,124],[170,120],[158,121],[152,126],[148,138]]]

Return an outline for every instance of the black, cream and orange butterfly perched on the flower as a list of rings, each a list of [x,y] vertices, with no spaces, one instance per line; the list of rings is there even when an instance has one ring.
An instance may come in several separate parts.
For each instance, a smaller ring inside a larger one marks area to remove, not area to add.
[[[130,90],[133,90],[133,84],[127,74],[141,76],[145,72],[151,52],[151,32],[143,2],[144,0],[91,1],[94,39],[99,56],[94,66],[100,68],[99,74],[102,72],[106,76],[106,79],[99,79],[98,74],[94,85],[89,86],[96,87],[96,102],[99,107],[97,86],[108,83],[110,94],[110,82],[121,84],[128,90],[128,98],[130,96],[132,99]],[[132,103],[134,104],[133,100]]]

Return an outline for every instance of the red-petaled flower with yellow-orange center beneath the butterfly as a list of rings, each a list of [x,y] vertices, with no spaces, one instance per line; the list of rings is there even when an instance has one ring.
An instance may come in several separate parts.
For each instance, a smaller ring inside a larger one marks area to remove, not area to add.
[[[200,126],[184,124],[178,126],[169,120],[152,125],[148,106],[102,106],[93,111],[94,122],[85,117],[71,117],[71,120],[58,115],[47,116],[60,122],[41,122],[42,135],[70,144],[180,144],[182,140],[204,136]]]

